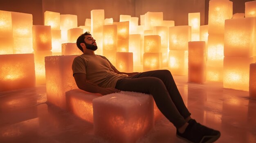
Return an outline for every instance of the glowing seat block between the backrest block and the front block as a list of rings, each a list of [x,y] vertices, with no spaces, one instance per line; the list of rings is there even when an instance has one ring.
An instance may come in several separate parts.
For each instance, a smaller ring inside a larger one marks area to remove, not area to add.
[[[93,123],[92,100],[101,96],[99,93],[90,93],[80,89],[67,91],[67,109],[77,117]]]

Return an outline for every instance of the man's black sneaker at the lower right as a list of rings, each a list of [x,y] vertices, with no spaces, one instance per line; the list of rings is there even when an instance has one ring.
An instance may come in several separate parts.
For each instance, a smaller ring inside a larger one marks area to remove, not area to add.
[[[176,132],[176,136],[189,143],[213,143],[220,137],[220,132],[208,128],[194,119],[189,120],[189,125],[183,134]]]

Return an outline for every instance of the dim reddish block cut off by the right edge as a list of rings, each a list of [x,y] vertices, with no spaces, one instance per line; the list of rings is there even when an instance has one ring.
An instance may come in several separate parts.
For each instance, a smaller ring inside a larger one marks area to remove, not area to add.
[[[249,95],[250,98],[256,98],[256,63],[250,64]]]

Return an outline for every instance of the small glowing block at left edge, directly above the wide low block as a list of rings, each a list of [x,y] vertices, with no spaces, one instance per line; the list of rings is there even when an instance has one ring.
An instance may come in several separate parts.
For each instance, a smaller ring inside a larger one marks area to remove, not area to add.
[[[0,37],[0,55],[13,54],[13,37]]]

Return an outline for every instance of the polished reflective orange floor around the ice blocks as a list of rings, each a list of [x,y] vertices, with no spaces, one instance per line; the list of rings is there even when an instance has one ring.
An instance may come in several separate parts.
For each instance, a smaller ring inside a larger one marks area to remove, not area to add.
[[[256,100],[220,82],[187,83],[174,76],[184,103],[203,125],[220,130],[216,143],[256,143]],[[46,103],[45,85],[0,92],[0,143],[108,143],[93,125]],[[186,143],[165,118],[137,143]]]

